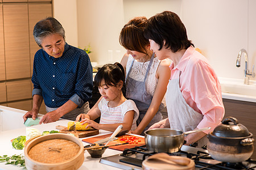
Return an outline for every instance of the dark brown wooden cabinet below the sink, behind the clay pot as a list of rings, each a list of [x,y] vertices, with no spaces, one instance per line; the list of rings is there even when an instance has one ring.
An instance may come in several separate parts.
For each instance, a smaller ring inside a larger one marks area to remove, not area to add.
[[[225,117],[232,116],[244,125],[256,139],[256,104],[253,102],[223,99],[225,107]],[[256,159],[256,142],[254,142],[254,152],[251,159]]]

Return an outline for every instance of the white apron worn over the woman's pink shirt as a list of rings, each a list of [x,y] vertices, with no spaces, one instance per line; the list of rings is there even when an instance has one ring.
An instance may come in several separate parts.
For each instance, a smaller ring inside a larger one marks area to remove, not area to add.
[[[171,129],[183,132],[193,130],[203,119],[203,114],[196,112],[185,101],[180,91],[179,78],[169,80],[166,92],[166,106]],[[198,146],[207,145],[207,136],[197,141]]]

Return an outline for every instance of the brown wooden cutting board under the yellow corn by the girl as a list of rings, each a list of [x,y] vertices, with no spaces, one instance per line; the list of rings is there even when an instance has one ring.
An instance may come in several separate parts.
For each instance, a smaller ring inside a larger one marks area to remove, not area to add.
[[[94,128],[91,128],[89,130],[68,130],[68,127],[58,125],[56,126],[56,129],[59,129],[60,131],[69,131],[72,133],[76,133],[79,138],[90,137],[99,133],[98,130]]]

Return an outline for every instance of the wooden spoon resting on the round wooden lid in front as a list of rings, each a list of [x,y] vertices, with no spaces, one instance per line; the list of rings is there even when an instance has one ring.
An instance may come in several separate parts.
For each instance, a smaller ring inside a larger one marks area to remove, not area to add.
[[[187,166],[190,163],[189,159],[183,158],[181,156],[170,156],[166,153],[158,153],[148,157],[147,159],[158,159],[166,163],[179,164],[183,166]]]

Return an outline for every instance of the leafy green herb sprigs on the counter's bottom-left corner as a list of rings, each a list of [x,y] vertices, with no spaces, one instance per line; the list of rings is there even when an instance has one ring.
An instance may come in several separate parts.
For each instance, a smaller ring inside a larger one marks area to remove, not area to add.
[[[13,156],[7,156],[7,155],[0,156],[0,163],[1,162],[6,162],[6,164],[13,164],[26,169],[25,159],[24,159],[24,156],[21,154],[13,155]]]

